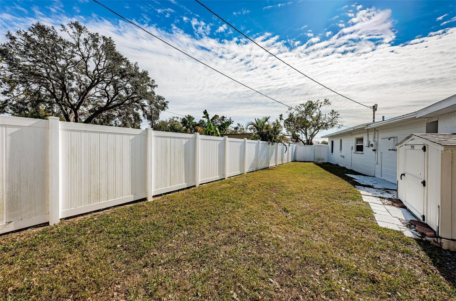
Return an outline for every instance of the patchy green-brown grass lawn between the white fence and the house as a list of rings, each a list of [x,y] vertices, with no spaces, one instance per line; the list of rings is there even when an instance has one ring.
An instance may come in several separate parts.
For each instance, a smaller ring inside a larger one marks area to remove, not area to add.
[[[345,171],[293,162],[0,236],[0,299],[455,300],[455,253],[378,227]]]

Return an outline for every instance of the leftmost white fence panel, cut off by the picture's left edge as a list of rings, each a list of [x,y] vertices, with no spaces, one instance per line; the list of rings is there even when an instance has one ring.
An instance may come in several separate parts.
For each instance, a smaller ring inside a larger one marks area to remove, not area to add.
[[[0,233],[49,221],[47,120],[0,116]]]

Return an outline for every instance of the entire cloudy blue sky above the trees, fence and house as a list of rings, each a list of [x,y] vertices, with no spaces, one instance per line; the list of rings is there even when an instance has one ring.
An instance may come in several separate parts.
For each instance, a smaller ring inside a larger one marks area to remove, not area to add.
[[[195,1],[100,2],[280,101],[327,97],[345,125],[372,118],[269,57]],[[378,103],[379,116],[408,113],[456,93],[455,1],[202,2],[309,76],[359,102]],[[0,41],[6,30],[35,21],[57,26],[79,20],[113,36],[119,51],[150,71],[171,112],[199,117],[207,109],[246,123],[286,109],[197,66],[93,1],[0,0],[0,17]]]

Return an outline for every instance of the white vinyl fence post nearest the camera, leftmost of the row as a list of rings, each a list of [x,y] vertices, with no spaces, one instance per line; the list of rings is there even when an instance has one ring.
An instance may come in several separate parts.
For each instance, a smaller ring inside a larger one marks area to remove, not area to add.
[[[60,221],[60,128],[59,117],[47,117],[49,122],[49,224]]]

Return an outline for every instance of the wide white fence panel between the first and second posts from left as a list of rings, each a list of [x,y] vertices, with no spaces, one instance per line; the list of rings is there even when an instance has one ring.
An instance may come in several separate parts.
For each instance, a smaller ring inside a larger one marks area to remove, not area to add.
[[[146,196],[146,132],[60,122],[60,218]]]

